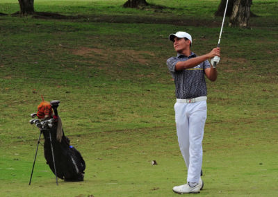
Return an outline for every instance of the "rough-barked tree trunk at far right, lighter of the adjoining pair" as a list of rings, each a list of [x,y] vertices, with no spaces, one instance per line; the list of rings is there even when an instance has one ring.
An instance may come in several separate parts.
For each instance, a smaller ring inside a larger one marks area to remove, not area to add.
[[[252,0],[236,0],[231,12],[229,26],[249,28]]]

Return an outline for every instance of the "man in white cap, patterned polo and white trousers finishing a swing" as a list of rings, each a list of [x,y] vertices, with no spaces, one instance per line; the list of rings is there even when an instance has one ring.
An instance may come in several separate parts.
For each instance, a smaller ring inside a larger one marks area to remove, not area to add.
[[[173,191],[178,194],[199,193],[204,182],[201,180],[202,171],[202,140],[206,122],[206,80],[205,76],[215,81],[216,68],[208,59],[220,57],[220,48],[197,56],[190,50],[192,37],[186,32],[179,31],[170,34],[169,39],[174,43],[176,57],[167,60],[167,67],[174,78],[177,103],[174,104],[177,137],[181,155],[188,169],[187,183],[176,186]],[[220,58],[216,58],[217,63]]]

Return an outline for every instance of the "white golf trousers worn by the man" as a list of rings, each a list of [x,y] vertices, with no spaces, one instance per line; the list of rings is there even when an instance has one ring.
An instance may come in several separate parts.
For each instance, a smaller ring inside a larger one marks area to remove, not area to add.
[[[188,182],[199,182],[202,169],[206,101],[175,103],[177,137],[181,154],[188,169]]]

